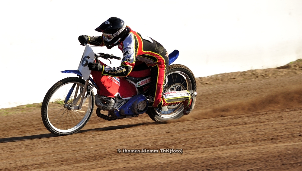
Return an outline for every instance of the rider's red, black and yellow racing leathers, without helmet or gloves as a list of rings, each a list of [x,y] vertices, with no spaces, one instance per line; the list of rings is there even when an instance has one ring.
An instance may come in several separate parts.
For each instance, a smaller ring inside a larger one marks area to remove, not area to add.
[[[119,67],[103,66],[102,75],[126,77],[132,71],[135,62],[140,61],[146,63],[151,71],[149,99],[154,107],[177,104],[184,100],[188,102],[191,98],[188,91],[187,95],[182,95],[181,98],[163,98],[163,85],[169,65],[169,56],[165,48],[152,38],[143,36],[128,26],[127,29],[129,29],[128,35],[117,45],[124,55],[121,65]],[[89,44],[104,46],[103,36],[88,36],[88,38]]]

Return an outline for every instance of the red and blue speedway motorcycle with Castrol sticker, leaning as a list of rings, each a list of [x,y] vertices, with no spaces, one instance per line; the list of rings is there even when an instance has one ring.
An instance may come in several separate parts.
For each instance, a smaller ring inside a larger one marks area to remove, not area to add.
[[[196,81],[191,70],[184,65],[171,65],[178,54],[178,50],[169,54],[164,92],[196,91]],[[92,48],[85,44],[78,69],[61,71],[76,74],[78,77],[62,79],[46,93],[42,102],[41,116],[48,131],[55,135],[71,135],[80,131],[89,121],[95,105],[97,116],[108,121],[147,113],[153,121],[165,122],[184,115],[182,103],[163,108],[154,108],[149,104],[151,73],[148,67],[138,69],[134,67],[127,77],[101,76],[101,81],[94,80],[90,76],[92,71],[87,64],[100,58],[109,61],[121,59],[112,54],[95,54]],[[93,88],[97,90],[97,95],[94,95]],[[195,100],[192,102],[195,103]]]

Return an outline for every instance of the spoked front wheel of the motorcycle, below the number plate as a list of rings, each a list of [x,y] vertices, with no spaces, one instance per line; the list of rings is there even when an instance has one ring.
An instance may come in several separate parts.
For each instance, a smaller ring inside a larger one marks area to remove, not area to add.
[[[84,90],[85,81],[69,77],[58,81],[46,93],[41,107],[44,126],[55,135],[74,134],[89,121],[94,108],[93,92]],[[85,93],[79,109],[82,93]]]

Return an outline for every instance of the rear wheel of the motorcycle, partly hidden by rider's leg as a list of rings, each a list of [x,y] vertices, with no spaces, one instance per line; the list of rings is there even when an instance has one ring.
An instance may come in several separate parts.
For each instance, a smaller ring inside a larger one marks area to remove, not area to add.
[[[192,71],[181,64],[170,65],[167,69],[166,80],[163,92],[195,90],[196,80]],[[182,103],[168,106],[168,111],[161,108],[149,108],[146,113],[156,122],[165,122],[171,119],[179,119],[183,114],[184,105]]]

